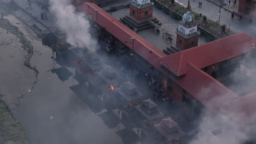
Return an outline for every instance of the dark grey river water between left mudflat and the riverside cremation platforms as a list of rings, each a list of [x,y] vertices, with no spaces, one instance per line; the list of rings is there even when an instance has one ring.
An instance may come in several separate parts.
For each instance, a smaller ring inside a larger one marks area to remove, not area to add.
[[[51,73],[51,50],[39,42],[33,41],[33,45],[42,55],[31,60],[39,71],[38,82],[14,111],[32,143],[123,143],[115,130],[69,89],[72,77],[62,82]]]

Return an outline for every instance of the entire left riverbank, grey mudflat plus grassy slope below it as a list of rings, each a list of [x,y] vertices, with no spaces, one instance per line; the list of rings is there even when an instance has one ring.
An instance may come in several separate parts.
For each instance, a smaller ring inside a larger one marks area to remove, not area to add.
[[[19,28],[8,20],[0,20],[0,143],[30,143],[26,131],[16,121],[12,111],[21,103],[23,94],[36,83],[34,68],[30,67],[33,47]],[[16,20],[16,25],[20,25]]]

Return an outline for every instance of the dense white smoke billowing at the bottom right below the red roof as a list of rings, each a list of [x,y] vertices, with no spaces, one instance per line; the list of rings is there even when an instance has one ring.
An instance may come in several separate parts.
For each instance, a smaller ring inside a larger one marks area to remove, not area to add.
[[[249,140],[251,129],[236,122],[235,116],[203,117],[199,133],[190,144],[240,144]]]

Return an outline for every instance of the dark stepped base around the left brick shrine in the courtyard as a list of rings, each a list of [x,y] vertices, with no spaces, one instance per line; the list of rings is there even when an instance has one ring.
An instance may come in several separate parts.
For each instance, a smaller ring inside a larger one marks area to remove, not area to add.
[[[132,20],[131,17],[127,15],[123,18],[123,20],[126,24],[129,24],[133,29],[136,29],[137,32],[143,31],[144,29],[148,29],[152,26],[149,23],[149,21],[137,23],[135,20]],[[151,21],[156,23],[156,25],[161,26],[161,23],[156,18],[152,19]]]

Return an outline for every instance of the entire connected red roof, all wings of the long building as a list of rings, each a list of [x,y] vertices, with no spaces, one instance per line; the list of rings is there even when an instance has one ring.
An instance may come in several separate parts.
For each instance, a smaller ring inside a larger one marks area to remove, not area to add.
[[[250,35],[241,32],[166,56],[147,40],[110,16],[96,4],[84,3],[79,5],[78,9],[84,13],[88,12],[94,21],[97,21],[101,27],[106,28],[109,33],[130,47],[130,49],[132,49],[132,44],[125,43],[125,41],[129,41],[131,37],[137,37],[134,40],[134,51],[163,73],[166,73],[166,71],[160,68],[160,62],[167,63],[172,73],[179,76],[178,79],[173,81],[193,95],[208,109],[217,112],[220,110],[219,106],[221,105],[221,109],[232,111],[232,107],[237,106],[237,111],[241,114],[240,116],[247,117],[253,115],[249,117],[250,119],[245,119],[245,123],[256,120],[256,113],[254,112],[256,106],[253,103],[255,95],[248,94],[240,98],[222,85],[222,83],[200,70],[201,68],[248,52],[252,41],[256,42]],[[97,12],[96,17],[94,10],[97,9],[100,9],[100,11]],[[164,66],[167,67],[166,65]]]

